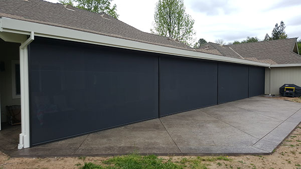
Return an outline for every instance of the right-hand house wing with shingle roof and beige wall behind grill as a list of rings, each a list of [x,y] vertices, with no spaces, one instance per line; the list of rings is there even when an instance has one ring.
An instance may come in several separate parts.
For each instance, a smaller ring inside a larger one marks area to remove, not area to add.
[[[265,68],[265,94],[279,94],[285,83],[301,86],[301,55],[297,38],[220,45],[212,42],[198,51],[270,64]]]

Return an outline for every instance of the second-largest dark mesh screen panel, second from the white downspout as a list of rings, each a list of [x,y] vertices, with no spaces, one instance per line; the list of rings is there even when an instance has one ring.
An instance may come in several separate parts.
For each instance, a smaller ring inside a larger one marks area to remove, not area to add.
[[[161,57],[160,114],[217,103],[217,62]]]

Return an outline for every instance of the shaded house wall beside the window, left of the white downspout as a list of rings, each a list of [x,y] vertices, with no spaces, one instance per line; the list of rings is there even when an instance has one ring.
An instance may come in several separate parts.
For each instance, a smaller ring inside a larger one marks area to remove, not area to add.
[[[0,71],[1,122],[7,121],[6,105],[20,105],[20,98],[13,99],[12,60],[19,60],[18,43],[0,40],[0,61],[5,62],[5,71]]]

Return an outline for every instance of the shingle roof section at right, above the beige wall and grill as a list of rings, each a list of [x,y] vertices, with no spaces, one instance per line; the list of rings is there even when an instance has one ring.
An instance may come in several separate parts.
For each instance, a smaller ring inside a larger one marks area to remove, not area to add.
[[[208,42],[196,50],[211,52],[213,50],[210,50],[210,48],[215,48],[216,51],[223,56],[244,58],[246,60],[269,64],[301,63],[301,55],[293,52],[296,39],[297,38],[287,38],[230,45]],[[211,53],[215,53],[216,51]]]

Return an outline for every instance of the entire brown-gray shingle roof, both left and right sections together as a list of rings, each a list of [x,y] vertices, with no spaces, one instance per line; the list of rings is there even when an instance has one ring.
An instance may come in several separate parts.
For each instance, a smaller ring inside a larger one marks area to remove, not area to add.
[[[174,39],[140,31],[111,16],[103,18],[102,14],[75,7],[73,11],[61,3],[44,0],[0,0],[0,17],[269,64],[301,63],[301,56],[293,52],[296,38],[223,46],[209,42],[194,49]]]

